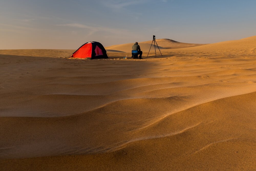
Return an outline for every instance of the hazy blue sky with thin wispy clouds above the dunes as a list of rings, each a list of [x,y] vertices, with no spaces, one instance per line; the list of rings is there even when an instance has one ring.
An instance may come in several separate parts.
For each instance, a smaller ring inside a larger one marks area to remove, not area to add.
[[[255,36],[255,0],[1,0],[0,49],[77,49],[167,38]]]

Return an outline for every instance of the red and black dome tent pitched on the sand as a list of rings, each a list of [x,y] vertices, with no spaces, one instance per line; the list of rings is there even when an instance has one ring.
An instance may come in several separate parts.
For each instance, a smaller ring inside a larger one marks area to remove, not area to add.
[[[78,48],[70,58],[100,59],[109,57],[101,43],[96,41],[90,41]]]

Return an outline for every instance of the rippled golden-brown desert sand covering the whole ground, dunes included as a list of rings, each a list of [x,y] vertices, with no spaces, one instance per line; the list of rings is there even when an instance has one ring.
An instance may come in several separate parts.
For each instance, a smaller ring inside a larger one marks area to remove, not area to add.
[[[0,50],[0,170],[256,170],[256,36],[156,41]]]

